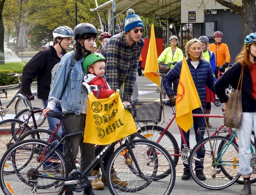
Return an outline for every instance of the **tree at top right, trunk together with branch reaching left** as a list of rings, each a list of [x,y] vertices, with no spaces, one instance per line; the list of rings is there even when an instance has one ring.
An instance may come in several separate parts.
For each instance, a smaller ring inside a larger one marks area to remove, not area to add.
[[[248,34],[255,32],[256,28],[256,5],[255,0],[242,0],[231,1],[231,0],[215,0],[217,3],[234,10],[236,13],[241,15],[243,28],[242,37],[245,38]]]

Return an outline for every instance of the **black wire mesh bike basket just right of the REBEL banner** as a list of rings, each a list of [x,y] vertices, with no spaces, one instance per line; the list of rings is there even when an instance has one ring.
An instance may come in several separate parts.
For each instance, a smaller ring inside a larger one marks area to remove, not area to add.
[[[133,102],[137,111],[135,122],[160,122],[162,105],[159,102]]]

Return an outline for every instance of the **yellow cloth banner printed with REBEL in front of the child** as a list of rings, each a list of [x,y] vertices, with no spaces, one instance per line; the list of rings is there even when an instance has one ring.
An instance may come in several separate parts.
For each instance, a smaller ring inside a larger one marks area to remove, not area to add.
[[[133,118],[124,109],[119,92],[105,99],[89,93],[83,142],[107,145],[136,132]]]

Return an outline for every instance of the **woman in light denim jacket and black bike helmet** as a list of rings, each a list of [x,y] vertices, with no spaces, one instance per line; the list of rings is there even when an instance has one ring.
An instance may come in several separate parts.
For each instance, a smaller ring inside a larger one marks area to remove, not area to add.
[[[52,83],[49,95],[48,106],[43,111],[44,116],[47,112],[52,111],[55,105],[61,99],[61,107],[63,110],[75,112],[74,115],[67,115],[64,118],[64,126],[67,134],[81,132],[85,127],[85,119],[87,112],[87,93],[82,86],[84,78],[84,70],[82,68],[83,59],[91,54],[94,39],[98,32],[96,28],[89,23],[78,24],[74,29],[74,58],[76,62],[71,67],[72,53],[67,53],[60,61],[56,77]],[[80,170],[84,171],[88,165],[94,160],[94,145],[83,143],[83,135],[69,137],[73,156],[78,154],[79,146],[81,152]],[[64,144],[63,154],[67,160],[67,171],[70,173],[73,169],[71,164],[72,157],[69,156],[67,146]],[[90,175],[89,175],[90,176]],[[84,190],[83,195],[94,195],[92,187]],[[65,195],[73,195],[70,189],[66,188]]]

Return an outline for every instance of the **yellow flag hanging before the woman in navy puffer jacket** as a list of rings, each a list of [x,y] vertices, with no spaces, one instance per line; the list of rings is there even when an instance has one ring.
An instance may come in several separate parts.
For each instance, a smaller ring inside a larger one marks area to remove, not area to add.
[[[201,106],[197,89],[190,74],[185,57],[180,72],[180,82],[176,98],[176,123],[188,131],[193,125],[192,110]]]

